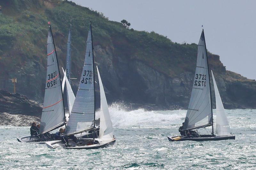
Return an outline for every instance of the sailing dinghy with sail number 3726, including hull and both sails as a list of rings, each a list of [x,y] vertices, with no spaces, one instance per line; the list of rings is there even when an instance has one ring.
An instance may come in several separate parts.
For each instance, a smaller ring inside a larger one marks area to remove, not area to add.
[[[97,67],[98,68],[98,67]],[[98,69],[97,69],[98,71]],[[94,57],[92,48],[92,26],[87,37],[84,67],[76,93],[76,99],[68,120],[65,135],[80,134],[79,144],[69,139],[72,147],[67,147],[61,140],[46,142],[49,148],[63,147],[65,149],[95,149],[114,143],[113,127],[110,119],[108,104],[103,85],[98,71],[100,84],[100,128],[95,127],[95,82],[94,82]],[[88,133],[89,132],[89,133]],[[99,132],[99,135],[97,134]],[[88,135],[95,135],[88,138]]]

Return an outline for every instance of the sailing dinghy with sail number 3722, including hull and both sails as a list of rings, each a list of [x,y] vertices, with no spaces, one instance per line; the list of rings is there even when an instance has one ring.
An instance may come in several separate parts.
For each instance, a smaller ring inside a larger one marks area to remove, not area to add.
[[[185,122],[179,129],[179,131],[181,131],[181,134],[183,135],[173,136],[171,138],[167,137],[169,141],[208,141],[235,139],[235,136],[231,134],[213,74],[212,78],[216,98],[217,135],[215,135],[213,132],[211,84],[203,30],[198,43],[196,73],[193,82],[190,102],[188,105],[188,111]],[[198,129],[205,128],[207,126],[212,127],[212,134],[200,135],[196,132]]]

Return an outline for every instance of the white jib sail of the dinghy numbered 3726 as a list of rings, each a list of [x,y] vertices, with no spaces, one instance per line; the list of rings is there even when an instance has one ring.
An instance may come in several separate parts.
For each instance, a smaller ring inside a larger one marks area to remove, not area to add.
[[[100,85],[100,134],[99,138],[103,140],[113,139],[113,126],[108,110],[108,103],[105,96],[104,88],[100,78],[100,72],[97,67],[99,85]]]

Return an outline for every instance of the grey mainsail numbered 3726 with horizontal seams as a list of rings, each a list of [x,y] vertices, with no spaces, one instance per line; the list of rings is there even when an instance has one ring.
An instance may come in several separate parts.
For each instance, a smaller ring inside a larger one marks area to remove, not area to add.
[[[68,120],[67,134],[88,129],[94,125],[94,70],[91,29],[88,32],[84,67],[76,99]]]

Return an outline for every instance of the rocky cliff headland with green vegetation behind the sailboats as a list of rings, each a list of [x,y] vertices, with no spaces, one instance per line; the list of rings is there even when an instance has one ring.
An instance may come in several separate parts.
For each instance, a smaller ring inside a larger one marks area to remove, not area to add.
[[[78,80],[72,80],[71,85],[76,94],[92,20],[95,62],[108,104],[124,101],[148,109],[187,108],[196,67],[196,44],[177,44],[155,32],[126,29],[121,23],[108,21],[102,14],[71,2],[42,2],[0,1],[1,89],[12,91],[11,78],[16,77],[17,92],[43,102],[47,22],[51,21],[59,64],[65,69],[72,19],[71,77]],[[210,40],[206,37],[207,41]],[[256,81],[227,71],[218,55],[208,52],[208,58],[224,107],[254,108]],[[96,88],[99,99],[97,85]],[[99,106],[98,100],[96,104]]]

